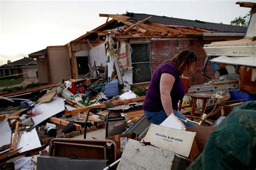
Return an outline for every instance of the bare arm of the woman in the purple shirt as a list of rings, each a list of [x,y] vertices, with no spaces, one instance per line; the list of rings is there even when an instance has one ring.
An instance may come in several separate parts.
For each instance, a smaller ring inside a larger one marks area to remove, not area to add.
[[[160,78],[160,95],[161,103],[167,116],[173,113],[171,90],[175,81],[175,77],[168,73],[163,73]]]

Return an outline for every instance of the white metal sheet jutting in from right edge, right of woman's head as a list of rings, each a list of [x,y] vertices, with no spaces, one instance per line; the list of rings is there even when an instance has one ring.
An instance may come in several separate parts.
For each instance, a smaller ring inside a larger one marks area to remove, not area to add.
[[[256,56],[226,56],[221,55],[210,60],[211,62],[224,63],[227,65],[240,65],[256,67]]]

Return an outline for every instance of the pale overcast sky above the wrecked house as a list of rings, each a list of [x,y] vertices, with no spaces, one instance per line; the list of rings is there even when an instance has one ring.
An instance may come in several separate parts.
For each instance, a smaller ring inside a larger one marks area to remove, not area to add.
[[[99,13],[147,13],[230,24],[250,8],[238,0],[204,1],[5,1],[0,0],[0,65],[47,46],[65,45],[106,22]],[[256,3],[256,0],[250,2]]]

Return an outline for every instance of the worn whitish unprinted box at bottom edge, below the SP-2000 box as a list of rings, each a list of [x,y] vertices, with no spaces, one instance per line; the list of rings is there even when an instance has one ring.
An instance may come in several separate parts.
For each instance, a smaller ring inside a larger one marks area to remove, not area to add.
[[[185,169],[187,162],[171,151],[129,139],[117,169]]]

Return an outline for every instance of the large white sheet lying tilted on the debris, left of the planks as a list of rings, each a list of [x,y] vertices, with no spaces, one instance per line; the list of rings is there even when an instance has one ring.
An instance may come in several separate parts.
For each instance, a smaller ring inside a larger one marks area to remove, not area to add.
[[[63,110],[65,110],[64,100],[65,100],[64,98],[60,98],[56,96],[56,97],[53,97],[50,102],[42,103],[40,105],[37,105],[35,108],[33,108],[32,111],[38,110],[42,112],[41,115],[32,117],[33,121],[35,122],[34,126],[58,114],[59,112],[62,112]]]

